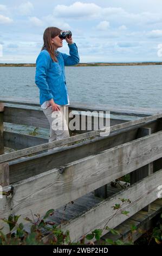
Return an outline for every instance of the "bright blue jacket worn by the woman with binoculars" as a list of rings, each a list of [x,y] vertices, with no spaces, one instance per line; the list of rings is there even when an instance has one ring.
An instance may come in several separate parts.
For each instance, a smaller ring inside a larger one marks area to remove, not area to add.
[[[35,83],[40,89],[40,104],[54,99],[58,105],[68,104],[68,92],[64,66],[79,63],[79,54],[76,44],[68,44],[69,54],[57,51],[57,60],[54,62],[47,50],[43,50],[36,60]]]

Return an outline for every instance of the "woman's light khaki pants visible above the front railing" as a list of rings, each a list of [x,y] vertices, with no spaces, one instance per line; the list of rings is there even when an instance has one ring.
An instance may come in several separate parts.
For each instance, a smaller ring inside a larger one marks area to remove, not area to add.
[[[48,107],[46,109],[43,109],[43,112],[46,115],[50,124],[49,142],[68,138],[69,130],[66,121],[68,108],[66,108],[66,106],[60,106],[60,111],[52,112],[52,108]]]

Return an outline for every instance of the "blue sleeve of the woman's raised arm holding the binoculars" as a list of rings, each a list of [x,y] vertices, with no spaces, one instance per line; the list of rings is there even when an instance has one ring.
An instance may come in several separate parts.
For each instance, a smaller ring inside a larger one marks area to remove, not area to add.
[[[72,66],[72,65],[76,65],[79,63],[79,54],[77,52],[77,46],[76,44],[71,44],[69,45],[69,54],[67,55],[66,53],[61,53],[63,60],[64,60],[64,65],[65,66]]]

